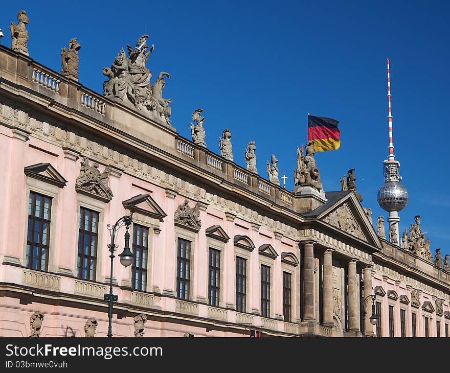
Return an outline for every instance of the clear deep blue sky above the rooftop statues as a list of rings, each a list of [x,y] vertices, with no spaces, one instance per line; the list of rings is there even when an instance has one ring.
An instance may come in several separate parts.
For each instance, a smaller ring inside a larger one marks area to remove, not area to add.
[[[190,138],[191,114],[204,109],[209,149],[218,153],[230,128],[235,161],[245,166],[245,145],[255,141],[259,173],[267,177],[274,153],[288,190],[307,113],[339,120],[341,148],[316,156],[324,188],[340,190],[339,178],[356,169],[374,222],[387,221],[376,196],[388,155],[389,58],[394,153],[410,195],[400,233],[420,215],[433,253],[450,253],[447,2],[5,2],[2,44],[11,45],[20,9],[30,19],[30,57],[59,71],[60,50],[76,36],[79,80],[97,92],[102,67],[150,35],[147,66],[152,82],[160,71],[172,75],[163,96],[173,99],[176,130]]]

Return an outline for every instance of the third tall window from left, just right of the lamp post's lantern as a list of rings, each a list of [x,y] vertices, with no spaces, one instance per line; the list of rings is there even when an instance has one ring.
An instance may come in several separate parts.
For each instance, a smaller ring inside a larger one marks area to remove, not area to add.
[[[148,228],[133,224],[133,264],[131,266],[131,287],[147,290]]]

